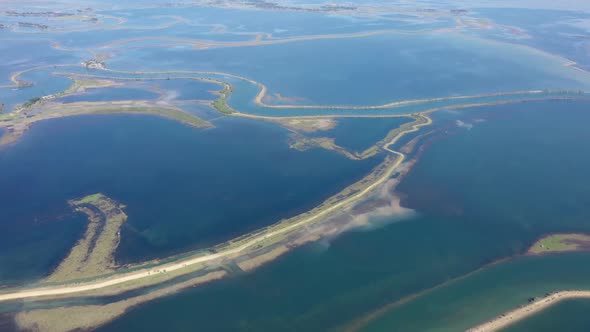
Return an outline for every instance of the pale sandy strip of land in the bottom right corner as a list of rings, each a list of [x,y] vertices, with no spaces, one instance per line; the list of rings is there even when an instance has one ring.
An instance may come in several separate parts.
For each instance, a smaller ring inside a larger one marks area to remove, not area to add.
[[[490,332],[490,331],[499,331],[503,328],[506,328],[518,321],[521,321],[525,318],[528,318],[532,315],[535,315],[550,306],[559,303],[564,300],[569,299],[587,299],[590,298],[590,291],[584,290],[570,290],[570,291],[561,291],[552,293],[551,295],[536,300],[532,303],[529,303],[525,306],[518,307],[514,310],[501,314],[500,316],[478,325],[476,327],[470,328],[467,332]]]

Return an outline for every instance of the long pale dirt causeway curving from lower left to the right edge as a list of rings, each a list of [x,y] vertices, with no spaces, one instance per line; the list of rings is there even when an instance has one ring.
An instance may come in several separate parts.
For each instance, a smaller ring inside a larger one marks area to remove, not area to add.
[[[191,72],[194,73],[194,72]],[[202,74],[202,73],[201,73]],[[212,73],[210,73],[212,74]],[[219,74],[219,73],[215,73]],[[239,76],[235,75],[225,75],[234,78],[240,78]],[[18,77],[16,77],[18,79]],[[218,84],[223,84],[223,98],[224,102],[227,102],[227,97],[233,89],[231,89],[231,85],[227,82],[212,80],[210,78],[202,78],[202,77],[195,77],[195,79],[205,79],[208,82],[215,82]],[[542,91],[541,91],[542,92]],[[533,93],[540,93],[539,91],[534,91]],[[260,93],[258,94],[260,95]],[[578,96],[578,95],[577,95]],[[554,99],[582,99],[582,98],[572,98],[572,97],[562,97],[562,98],[547,98],[550,100]],[[543,100],[543,99],[533,99],[533,100]],[[96,278],[91,282],[88,281],[79,281],[79,282],[72,282],[73,285],[67,286],[60,285],[60,286],[46,286],[46,287],[37,287],[37,288],[29,288],[24,290],[15,291],[12,293],[3,292],[0,294],[0,302],[1,301],[11,301],[23,298],[32,298],[32,297],[63,297],[63,296],[77,296],[80,293],[88,293],[92,291],[101,291],[103,289],[118,287],[122,286],[122,289],[125,288],[125,284],[133,284],[132,287],[139,287],[142,285],[143,282],[147,281],[149,284],[149,280],[152,280],[151,283],[157,283],[155,281],[153,275],[162,273],[162,270],[167,272],[168,277],[160,277],[158,279],[165,279],[169,280],[175,276],[183,275],[189,272],[194,271],[193,269],[197,268],[200,269],[203,266],[207,265],[214,261],[224,260],[224,259],[235,259],[239,257],[241,254],[248,252],[249,250],[260,249],[261,246],[268,245],[268,242],[274,244],[276,241],[280,242],[287,234],[291,231],[295,231],[302,227],[305,227],[309,224],[315,223],[318,219],[327,217],[336,210],[340,208],[347,208],[352,203],[357,202],[358,200],[364,198],[367,194],[372,192],[376,187],[386,182],[391,175],[394,174],[396,169],[402,165],[402,163],[406,159],[406,155],[398,152],[396,150],[391,149],[390,147],[394,145],[401,137],[408,133],[416,132],[420,130],[420,128],[424,126],[429,126],[432,124],[432,119],[428,116],[429,114],[441,110],[448,110],[448,109],[464,109],[464,108],[474,108],[474,107],[481,107],[481,106],[491,106],[491,105],[501,105],[501,104],[509,104],[509,103],[517,103],[517,102],[528,102],[528,99],[519,99],[519,100],[504,100],[504,101],[494,101],[490,103],[473,103],[473,104],[456,104],[447,107],[438,107],[429,109],[427,111],[413,113],[413,114],[403,114],[403,115],[395,115],[395,116],[405,116],[405,117],[412,117],[415,121],[406,123],[396,129],[393,129],[389,132],[387,137],[378,142],[376,146],[380,147],[382,150],[389,152],[393,155],[393,158],[389,157],[378,166],[373,172],[371,172],[368,176],[366,176],[361,181],[345,188],[341,193],[331,197],[315,209],[305,212],[299,216],[294,218],[280,221],[274,225],[269,227],[263,228],[261,230],[254,231],[250,234],[245,234],[243,236],[238,237],[237,239],[230,240],[224,244],[220,244],[215,246],[214,248],[210,249],[210,253],[206,255],[199,255],[199,256],[191,256],[185,259],[173,260],[170,263],[158,264],[156,263],[157,268],[142,268],[141,266],[134,266],[132,267],[133,270],[137,270],[137,272],[122,272],[118,271],[115,275],[111,276],[102,276]],[[225,103],[224,103],[225,104]],[[229,107],[229,106],[228,106]],[[241,116],[241,117],[250,117],[249,114],[243,113],[232,113],[230,116]],[[364,117],[362,115],[356,115],[357,117]],[[252,116],[256,118],[261,118],[261,116]],[[293,117],[298,118],[298,117]],[[322,117],[323,118],[323,117]],[[263,119],[275,119],[273,117],[263,117]],[[273,238],[275,238],[273,240]],[[276,239],[278,238],[278,239]],[[273,242],[275,241],[275,242]],[[278,255],[276,255],[278,257]],[[276,258],[276,257],[273,257]],[[266,261],[266,260],[265,260]],[[174,272],[174,275],[170,275],[171,272]],[[122,291],[122,290],[121,290]],[[120,292],[120,291],[116,291]]]

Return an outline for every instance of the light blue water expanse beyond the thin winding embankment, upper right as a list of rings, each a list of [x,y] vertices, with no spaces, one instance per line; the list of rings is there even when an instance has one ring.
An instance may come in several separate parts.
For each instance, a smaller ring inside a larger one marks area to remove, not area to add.
[[[259,81],[270,94],[324,105],[588,87],[586,75],[552,57],[458,35],[302,41],[240,52],[160,48],[140,56],[130,50],[111,63],[127,70],[223,71]]]

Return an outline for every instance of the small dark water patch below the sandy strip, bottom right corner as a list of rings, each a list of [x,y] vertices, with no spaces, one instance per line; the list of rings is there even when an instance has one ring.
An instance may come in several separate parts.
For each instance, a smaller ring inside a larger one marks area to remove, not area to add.
[[[514,324],[504,332],[590,331],[590,300],[566,300]]]

